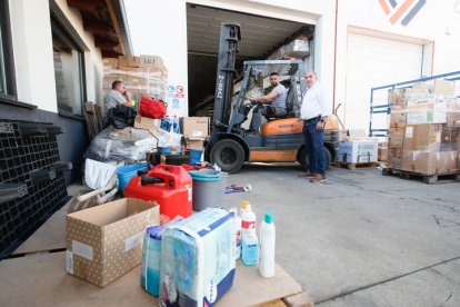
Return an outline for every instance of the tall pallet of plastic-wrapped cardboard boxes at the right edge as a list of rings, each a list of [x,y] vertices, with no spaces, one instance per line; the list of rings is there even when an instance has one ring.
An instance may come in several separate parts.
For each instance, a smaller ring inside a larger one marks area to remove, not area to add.
[[[460,99],[454,82],[440,79],[394,89],[388,161],[383,175],[418,177],[427,184],[459,179]]]

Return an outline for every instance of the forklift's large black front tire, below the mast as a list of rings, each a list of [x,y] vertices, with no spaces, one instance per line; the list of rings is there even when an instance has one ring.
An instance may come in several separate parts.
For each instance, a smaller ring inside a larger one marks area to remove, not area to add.
[[[237,172],[244,164],[244,150],[236,140],[220,140],[212,147],[211,162],[222,171]]]

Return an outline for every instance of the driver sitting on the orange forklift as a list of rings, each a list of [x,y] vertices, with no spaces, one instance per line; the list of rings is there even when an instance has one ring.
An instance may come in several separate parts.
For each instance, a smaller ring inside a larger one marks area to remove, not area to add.
[[[260,127],[262,126],[262,116],[270,118],[284,116],[287,113],[286,98],[288,92],[287,89],[280,85],[280,77],[277,72],[270,73],[270,85],[272,89],[269,95],[260,97],[248,96],[248,99],[260,103],[252,112],[252,120],[250,125],[251,130],[260,131]],[[266,106],[263,103],[266,103]]]

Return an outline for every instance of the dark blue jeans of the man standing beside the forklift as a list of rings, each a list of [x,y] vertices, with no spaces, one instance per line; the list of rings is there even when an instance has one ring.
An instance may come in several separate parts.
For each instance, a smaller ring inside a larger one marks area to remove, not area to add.
[[[318,130],[317,123],[321,117],[303,120],[302,135],[306,141],[309,171],[326,175],[324,130]]]

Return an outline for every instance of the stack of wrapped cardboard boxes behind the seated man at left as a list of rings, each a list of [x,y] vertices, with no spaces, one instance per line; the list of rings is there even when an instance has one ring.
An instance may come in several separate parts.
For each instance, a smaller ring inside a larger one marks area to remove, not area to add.
[[[102,88],[104,90],[110,90],[114,80],[121,80],[134,96],[152,97],[166,101],[168,70],[160,57],[103,59],[103,73]]]

